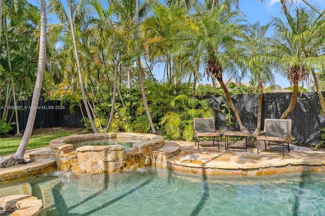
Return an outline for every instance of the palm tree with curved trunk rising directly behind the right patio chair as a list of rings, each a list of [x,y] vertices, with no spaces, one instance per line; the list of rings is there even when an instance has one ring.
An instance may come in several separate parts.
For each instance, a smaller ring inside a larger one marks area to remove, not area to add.
[[[285,9],[286,10],[286,9]],[[276,50],[278,52],[277,70],[285,71],[288,80],[294,84],[291,101],[281,119],[286,119],[294,110],[299,82],[306,80],[308,71],[322,69],[325,65],[324,55],[310,55],[309,48],[315,48],[315,41],[323,37],[324,21],[315,19],[305,8],[297,8],[295,17],[286,14],[286,22],[274,17]],[[319,48],[319,44],[317,45]],[[312,52],[315,54],[315,52]]]

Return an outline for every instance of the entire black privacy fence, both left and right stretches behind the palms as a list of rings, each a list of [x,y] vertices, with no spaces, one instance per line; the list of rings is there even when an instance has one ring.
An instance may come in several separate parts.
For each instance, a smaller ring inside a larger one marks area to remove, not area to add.
[[[325,96],[325,92],[322,92]],[[244,126],[252,133],[257,123],[257,94],[233,95],[232,99],[239,112]],[[225,99],[218,95],[208,95],[205,98],[210,99],[210,103],[215,111],[216,127],[229,130],[226,126],[225,116],[222,114],[222,103]],[[262,125],[264,119],[279,119],[282,113],[287,109],[291,99],[291,93],[269,93],[264,94],[262,107]],[[17,107],[10,105],[9,117],[15,108],[19,110],[19,128],[25,129],[31,101],[18,101]],[[48,127],[84,127],[82,114],[79,107],[74,107],[74,113],[69,111],[70,104],[60,104],[58,100],[46,101],[40,100],[37,107],[38,111],[34,123],[34,128]],[[4,102],[0,104],[0,114],[3,113]],[[85,113],[85,111],[83,111]],[[289,114],[288,119],[292,119],[291,137],[297,142],[318,143],[320,140],[319,128],[325,127],[325,118],[320,115],[320,103],[317,92],[308,92],[298,95],[295,109]],[[15,117],[13,116],[13,121]],[[231,130],[239,130],[236,120]],[[14,130],[16,126],[13,125]]]

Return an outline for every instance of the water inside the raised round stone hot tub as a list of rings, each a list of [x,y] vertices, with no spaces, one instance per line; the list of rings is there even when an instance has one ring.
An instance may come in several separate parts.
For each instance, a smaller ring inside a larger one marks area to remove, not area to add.
[[[117,139],[98,139],[98,140],[86,140],[79,141],[73,144],[73,150],[76,151],[77,148],[82,146],[113,146],[122,145],[124,150],[132,150],[133,143],[138,142],[138,140],[117,140]]]

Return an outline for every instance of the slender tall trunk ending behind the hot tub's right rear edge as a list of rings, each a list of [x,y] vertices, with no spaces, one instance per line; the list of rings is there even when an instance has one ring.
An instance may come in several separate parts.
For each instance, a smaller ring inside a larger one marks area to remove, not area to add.
[[[146,97],[146,92],[144,90],[144,83],[143,83],[143,77],[142,77],[142,67],[141,67],[141,59],[140,59],[140,46],[139,46],[139,0],[136,1],[136,24],[137,24],[137,64],[138,64],[138,75],[139,75],[139,82],[140,82],[140,88],[141,88],[141,93],[142,93],[142,99],[144,103],[144,107],[146,109],[146,114],[148,117],[148,121],[150,124],[150,128],[152,130],[152,133],[156,132],[156,129],[153,125],[151,115],[149,112],[149,106],[148,106],[148,101]]]

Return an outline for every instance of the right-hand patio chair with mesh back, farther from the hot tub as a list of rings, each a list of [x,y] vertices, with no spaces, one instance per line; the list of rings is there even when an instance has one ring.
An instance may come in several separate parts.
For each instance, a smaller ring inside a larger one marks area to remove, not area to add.
[[[284,142],[288,143],[291,137],[291,119],[265,119],[264,130],[259,132],[257,139],[257,154],[259,150],[259,140],[264,140],[266,150],[266,140],[282,141],[282,156],[284,157]],[[274,144],[279,145],[279,144]]]

